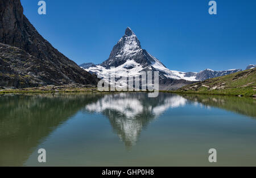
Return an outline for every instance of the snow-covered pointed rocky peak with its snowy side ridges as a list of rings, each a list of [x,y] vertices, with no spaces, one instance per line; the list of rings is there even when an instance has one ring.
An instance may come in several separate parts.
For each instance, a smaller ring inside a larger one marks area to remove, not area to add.
[[[90,73],[97,74],[100,78],[108,76],[110,72],[115,72],[115,77],[119,78],[138,76],[142,71],[158,71],[160,90],[178,89],[196,81],[240,71],[240,69],[229,71],[206,69],[199,73],[171,71],[160,60],[142,49],[141,42],[129,27],[126,28],[125,35],[114,45],[108,60],[98,65],[86,63],[80,67]]]

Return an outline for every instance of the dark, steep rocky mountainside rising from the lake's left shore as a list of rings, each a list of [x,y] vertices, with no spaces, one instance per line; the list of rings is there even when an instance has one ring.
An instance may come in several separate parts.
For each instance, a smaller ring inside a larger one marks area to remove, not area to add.
[[[97,84],[36,31],[20,0],[0,1],[0,22],[0,86]]]

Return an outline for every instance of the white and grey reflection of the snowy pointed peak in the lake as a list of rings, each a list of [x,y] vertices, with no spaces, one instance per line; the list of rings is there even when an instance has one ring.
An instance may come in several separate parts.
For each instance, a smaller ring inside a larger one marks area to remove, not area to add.
[[[148,98],[142,93],[108,94],[93,104],[85,106],[90,112],[102,113],[119,138],[128,148],[136,144],[142,129],[163,114],[165,110],[186,104],[181,96],[161,93],[158,98]]]

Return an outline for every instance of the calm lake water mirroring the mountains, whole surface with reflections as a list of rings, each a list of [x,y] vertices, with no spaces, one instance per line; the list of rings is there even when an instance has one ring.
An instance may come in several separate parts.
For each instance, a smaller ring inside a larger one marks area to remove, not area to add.
[[[256,166],[255,106],[253,98],[171,93],[5,94],[0,165]],[[38,163],[40,148],[47,163]]]

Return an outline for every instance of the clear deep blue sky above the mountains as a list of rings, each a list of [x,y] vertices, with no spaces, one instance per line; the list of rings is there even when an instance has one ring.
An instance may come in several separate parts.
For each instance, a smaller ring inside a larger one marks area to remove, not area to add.
[[[256,63],[256,1],[216,0],[21,0],[24,14],[46,38],[77,64],[102,63],[127,26],[142,47],[168,68],[199,72]]]

